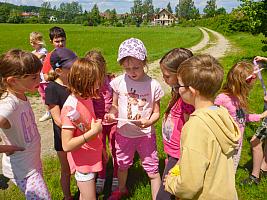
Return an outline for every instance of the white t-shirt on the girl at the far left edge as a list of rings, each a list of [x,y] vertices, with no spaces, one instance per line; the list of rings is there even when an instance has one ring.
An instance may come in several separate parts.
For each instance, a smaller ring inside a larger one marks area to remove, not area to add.
[[[0,129],[4,144],[25,148],[24,151],[16,151],[10,156],[3,154],[3,173],[8,178],[28,177],[41,169],[40,134],[30,103],[9,93],[0,100],[0,115],[11,125],[9,129]]]

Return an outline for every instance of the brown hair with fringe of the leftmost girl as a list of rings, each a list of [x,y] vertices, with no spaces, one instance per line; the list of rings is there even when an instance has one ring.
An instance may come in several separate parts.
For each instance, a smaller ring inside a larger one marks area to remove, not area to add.
[[[12,49],[0,56],[0,98],[8,94],[6,79],[11,76],[27,77],[42,69],[41,61],[30,52]]]

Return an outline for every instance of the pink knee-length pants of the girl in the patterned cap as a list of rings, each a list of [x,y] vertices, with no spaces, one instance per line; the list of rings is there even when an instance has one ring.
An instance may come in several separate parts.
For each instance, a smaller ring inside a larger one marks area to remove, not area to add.
[[[128,138],[116,133],[115,142],[119,169],[124,170],[132,166],[134,153],[137,151],[144,170],[148,174],[158,173],[159,159],[155,134]]]

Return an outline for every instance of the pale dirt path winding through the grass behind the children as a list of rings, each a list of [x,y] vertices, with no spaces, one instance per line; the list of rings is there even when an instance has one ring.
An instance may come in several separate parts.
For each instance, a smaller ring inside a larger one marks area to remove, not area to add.
[[[190,49],[196,53],[206,53],[206,54],[211,54],[212,56],[216,58],[221,58],[225,55],[225,52],[227,52],[230,49],[229,42],[226,38],[224,38],[221,34],[206,29],[206,28],[200,28],[200,30],[203,33],[203,39],[201,40],[200,43],[197,45],[191,47]],[[216,43],[210,44],[210,39],[209,39],[209,34],[213,34],[216,37]],[[208,46],[208,48],[207,48]],[[149,74],[157,79],[163,89],[166,92],[169,92],[170,89],[169,87],[164,83],[163,78],[160,73],[160,68],[159,68],[159,60],[154,61],[153,63],[149,64]],[[42,157],[45,156],[51,156],[51,155],[56,155],[56,152],[54,151],[54,138],[53,138],[53,129],[52,129],[52,123],[51,120],[46,121],[46,122],[39,122],[38,119],[44,114],[45,112],[45,107],[41,103],[40,98],[37,97],[31,97],[29,98],[32,108],[35,113],[35,118],[37,121],[37,127],[39,129],[39,132],[41,134],[41,146],[42,146]],[[1,157],[1,155],[0,155]],[[1,163],[0,163],[0,173],[1,173]]]

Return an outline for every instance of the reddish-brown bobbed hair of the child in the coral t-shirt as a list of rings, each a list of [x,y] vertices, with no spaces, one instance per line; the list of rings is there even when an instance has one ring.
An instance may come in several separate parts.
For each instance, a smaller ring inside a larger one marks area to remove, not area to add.
[[[101,66],[87,58],[77,59],[68,76],[69,90],[82,98],[98,98],[104,80]]]

